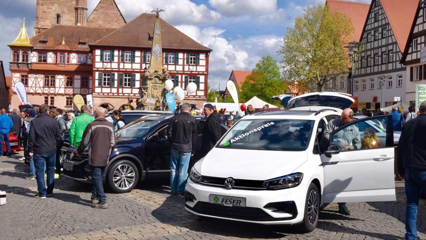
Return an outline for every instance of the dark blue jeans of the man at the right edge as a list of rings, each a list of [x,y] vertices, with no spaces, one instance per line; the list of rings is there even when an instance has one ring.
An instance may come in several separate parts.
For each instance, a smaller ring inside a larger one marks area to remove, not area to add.
[[[406,168],[404,178],[407,195],[406,239],[412,240],[417,238],[417,208],[419,207],[420,190],[426,192],[426,171]]]

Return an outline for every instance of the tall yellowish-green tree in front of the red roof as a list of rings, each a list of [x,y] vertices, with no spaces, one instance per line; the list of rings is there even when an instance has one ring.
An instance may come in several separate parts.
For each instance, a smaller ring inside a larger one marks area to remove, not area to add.
[[[281,55],[284,79],[298,82],[310,91],[321,91],[328,81],[349,72],[349,59],[342,47],[354,27],[342,12],[332,13],[328,6],[307,6],[302,16],[288,27]]]

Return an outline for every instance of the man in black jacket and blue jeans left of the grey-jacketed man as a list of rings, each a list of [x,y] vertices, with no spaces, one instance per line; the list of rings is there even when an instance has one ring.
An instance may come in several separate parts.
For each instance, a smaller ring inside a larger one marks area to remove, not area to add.
[[[38,108],[38,117],[31,120],[28,136],[28,152],[34,156],[35,178],[37,180],[37,198],[46,198],[53,193],[56,146],[60,144],[59,124],[48,115],[49,106]],[[47,189],[44,185],[44,164],[47,172]]]

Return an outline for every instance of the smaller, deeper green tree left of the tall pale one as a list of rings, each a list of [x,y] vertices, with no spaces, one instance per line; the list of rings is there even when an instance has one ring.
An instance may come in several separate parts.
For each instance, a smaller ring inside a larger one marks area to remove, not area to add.
[[[279,101],[271,99],[271,96],[284,93],[286,86],[281,78],[278,62],[272,56],[264,56],[241,84],[239,100],[245,102],[257,96],[266,102],[280,105]]]

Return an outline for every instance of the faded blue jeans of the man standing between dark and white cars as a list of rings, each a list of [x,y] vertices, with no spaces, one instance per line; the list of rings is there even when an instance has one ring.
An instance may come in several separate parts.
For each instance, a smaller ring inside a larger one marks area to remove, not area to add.
[[[172,148],[170,159],[170,187],[172,192],[182,193],[188,178],[191,152],[180,152]]]

